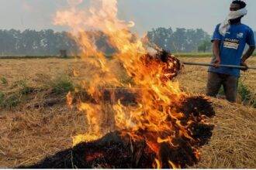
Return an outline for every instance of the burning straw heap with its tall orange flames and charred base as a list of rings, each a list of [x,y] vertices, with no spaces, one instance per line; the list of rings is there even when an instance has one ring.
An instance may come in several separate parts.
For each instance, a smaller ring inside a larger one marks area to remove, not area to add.
[[[74,148],[33,167],[184,168],[195,164],[199,146],[211,137],[213,127],[206,124],[206,117],[213,116],[213,107],[206,98],[189,97],[180,90],[172,81],[182,68],[178,59],[161,50],[149,53],[147,42],[129,31],[130,24],[117,19],[116,0],[93,2],[89,10],[77,8],[80,2],[71,3],[55,19],[56,24],[71,27],[82,59],[92,66],[81,81],[82,90],[67,95],[68,104],[85,112],[90,128],[74,137]],[[85,29],[100,30],[108,37],[116,49],[114,64]],[[121,70],[130,82],[119,80]],[[112,128],[102,124],[106,113],[112,117]]]

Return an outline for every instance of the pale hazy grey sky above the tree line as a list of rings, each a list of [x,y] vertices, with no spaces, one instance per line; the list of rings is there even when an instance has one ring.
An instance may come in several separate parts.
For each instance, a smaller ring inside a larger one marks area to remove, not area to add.
[[[89,0],[84,0],[85,4]],[[119,0],[119,18],[134,21],[134,31],[162,27],[202,28],[212,34],[223,21],[231,0]],[[256,30],[256,1],[247,0],[248,15],[243,22]],[[57,9],[67,7],[66,0],[0,0],[0,29],[54,29]]]

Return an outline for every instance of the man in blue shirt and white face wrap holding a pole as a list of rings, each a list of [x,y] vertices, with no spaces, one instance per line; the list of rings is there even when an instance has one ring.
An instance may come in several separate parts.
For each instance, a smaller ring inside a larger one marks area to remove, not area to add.
[[[245,7],[246,3],[243,1],[232,2],[227,19],[216,26],[212,39],[214,56],[212,62],[215,66],[209,67],[206,93],[210,97],[216,97],[223,85],[227,100],[235,102],[237,99],[240,70],[220,67],[220,64],[247,67],[245,61],[254,52],[254,32],[250,27],[241,23],[241,19],[247,14]],[[243,55],[246,44],[249,49]]]

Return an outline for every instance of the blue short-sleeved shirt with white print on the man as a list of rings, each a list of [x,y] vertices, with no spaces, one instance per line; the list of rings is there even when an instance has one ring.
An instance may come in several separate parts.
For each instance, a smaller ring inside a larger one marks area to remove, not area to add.
[[[220,64],[240,66],[245,45],[255,46],[254,32],[250,27],[244,24],[238,24],[230,25],[230,29],[227,29],[226,35],[222,36],[219,28],[220,24],[216,26],[212,42],[215,39],[220,40]],[[240,69],[227,67],[215,68],[210,66],[209,72],[240,76]]]

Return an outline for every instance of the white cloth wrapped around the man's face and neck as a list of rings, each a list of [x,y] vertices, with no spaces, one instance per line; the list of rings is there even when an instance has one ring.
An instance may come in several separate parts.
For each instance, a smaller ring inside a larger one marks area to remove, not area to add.
[[[222,36],[225,36],[227,30],[230,28],[230,19],[238,19],[244,15],[247,15],[246,8],[241,8],[237,11],[230,11],[229,15],[227,15],[227,18],[220,24],[220,34]]]

